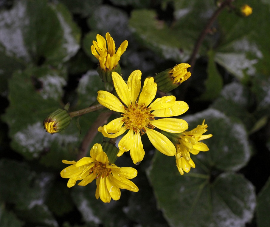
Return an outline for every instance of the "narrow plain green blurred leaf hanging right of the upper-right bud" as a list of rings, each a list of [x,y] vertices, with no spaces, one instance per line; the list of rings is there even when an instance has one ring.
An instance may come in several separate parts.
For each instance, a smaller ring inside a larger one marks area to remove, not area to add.
[[[214,100],[221,92],[223,81],[214,61],[214,52],[208,51],[208,77],[205,81],[205,92],[199,98],[200,100]]]

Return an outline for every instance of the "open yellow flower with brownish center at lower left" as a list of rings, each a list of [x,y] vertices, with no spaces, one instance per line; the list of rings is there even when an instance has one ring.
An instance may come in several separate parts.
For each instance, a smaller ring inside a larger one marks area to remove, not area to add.
[[[99,143],[94,144],[90,150],[91,157],[83,157],[79,161],[66,161],[63,163],[71,164],[61,171],[61,177],[69,178],[67,186],[70,188],[75,185],[77,180],[82,180],[78,185],[86,186],[94,179],[96,180],[96,198],[104,203],[109,203],[111,198],[120,199],[120,189],[127,189],[138,192],[138,187],[130,180],[137,176],[137,170],[131,167],[117,167],[109,165],[108,157],[102,150]]]

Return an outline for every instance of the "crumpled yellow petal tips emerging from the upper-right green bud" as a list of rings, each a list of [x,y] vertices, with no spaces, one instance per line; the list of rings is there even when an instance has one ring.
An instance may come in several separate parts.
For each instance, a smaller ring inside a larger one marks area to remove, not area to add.
[[[187,68],[190,67],[187,63],[181,63],[173,67],[172,70],[170,70],[171,77],[173,78],[173,83],[183,83],[188,78],[190,78],[191,73],[187,72]]]

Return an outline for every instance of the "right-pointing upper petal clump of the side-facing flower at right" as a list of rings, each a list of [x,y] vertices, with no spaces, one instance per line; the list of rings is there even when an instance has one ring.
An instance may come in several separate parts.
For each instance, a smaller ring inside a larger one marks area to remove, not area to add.
[[[193,155],[197,155],[200,151],[209,151],[208,146],[205,143],[200,142],[201,140],[212,137],[212,134],[202,135],[207,131],[207,124],[204,121],[201,125],[198,125],[191,131],[183,132],[179,137],[179,150],[187,151]]]

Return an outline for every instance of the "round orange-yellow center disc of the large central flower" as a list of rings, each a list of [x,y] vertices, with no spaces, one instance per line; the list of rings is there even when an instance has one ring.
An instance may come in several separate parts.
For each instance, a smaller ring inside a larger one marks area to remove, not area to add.
[[[145,104],[138,106],[138,103],[135,105],[130,105],[126,108],[125,113],[123,113],[125,121],[125,126],[127,129],[132,129],[134,132],[138,133],[139,131],[143,135],[146,132],[146,128],[153,129],[155,126],[150,124],[150,121],[155,120],[154,115],[150,114],[151,107],[147,108]]]

